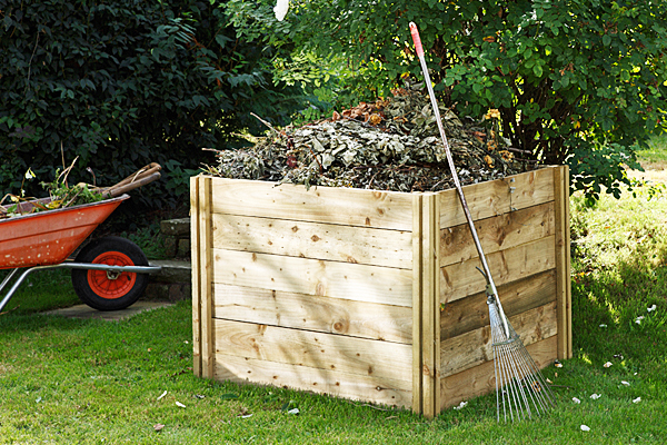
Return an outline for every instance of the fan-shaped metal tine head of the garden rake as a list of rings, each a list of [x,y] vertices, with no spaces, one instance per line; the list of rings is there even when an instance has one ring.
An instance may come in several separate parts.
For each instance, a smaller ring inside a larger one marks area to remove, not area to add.
[[[487,299],[496,370],[496,407],[500,422],[540,415],[555,405],[554,394],[524,343],[507,322],[494,295]]]

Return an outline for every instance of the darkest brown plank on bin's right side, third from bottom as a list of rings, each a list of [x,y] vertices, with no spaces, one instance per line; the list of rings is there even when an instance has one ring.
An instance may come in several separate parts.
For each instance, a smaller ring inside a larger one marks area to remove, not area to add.
[[[498,287],[508,317],[556,300],[556,269],[531,275]],[[489,325],[486,293],[478,293],[445,305],[440,312],[440,339],[456,337]]]

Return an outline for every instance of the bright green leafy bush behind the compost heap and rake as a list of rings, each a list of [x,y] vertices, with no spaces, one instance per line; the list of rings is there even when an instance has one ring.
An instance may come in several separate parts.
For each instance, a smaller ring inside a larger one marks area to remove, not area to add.
[[[295,51],[348,58],[360,96],[388,95],[406,73],[422,79],[408,28],[415,21],[446,103],[474,118],[499,109],[514,147],[544,164],[569,162],[575,188],[591,195],[601,185],[618,194],[627,182],[621,164],[638,167],[635,147],[665,128],[666,2],[290,3],[283,33],[259,34]]]

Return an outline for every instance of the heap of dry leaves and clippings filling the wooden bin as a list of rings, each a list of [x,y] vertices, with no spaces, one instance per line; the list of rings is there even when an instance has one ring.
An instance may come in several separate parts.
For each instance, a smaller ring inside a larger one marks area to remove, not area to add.
[[[502,147],[496,110],[479,123],[465,125],[442,107],[440,116],[462,185],[534,168],[517,159],[520,150]],[[253,147],[217,151],[217,159],[205,170],[233,179],[395,191],[455,187],[429,98],[417,87],[298,128],[270,127]]]

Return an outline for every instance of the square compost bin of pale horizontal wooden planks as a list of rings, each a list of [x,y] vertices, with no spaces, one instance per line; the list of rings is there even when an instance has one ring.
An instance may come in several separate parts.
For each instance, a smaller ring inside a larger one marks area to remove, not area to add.
[[[515,329],[571,357],[567,167],[464,187]],[[427,417],[495,389],[485,280],[456,190],[191,178],[195,373]]]

